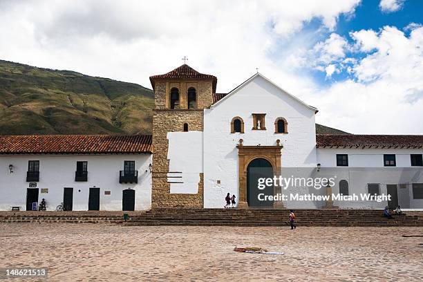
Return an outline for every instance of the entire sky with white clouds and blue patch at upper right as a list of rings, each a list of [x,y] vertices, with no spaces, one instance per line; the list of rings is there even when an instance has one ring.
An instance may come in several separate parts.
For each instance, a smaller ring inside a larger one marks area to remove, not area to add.
[[[227,92],[259,68],[351,133],[423,134],[420,0],[0,0],[0,59],[151,87],[188,64]]]

